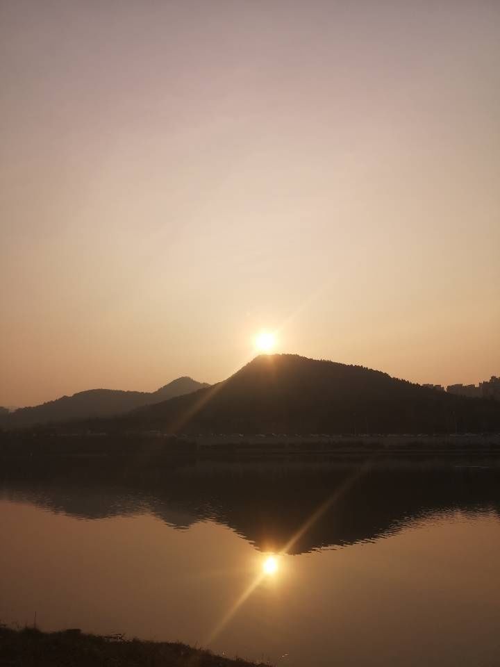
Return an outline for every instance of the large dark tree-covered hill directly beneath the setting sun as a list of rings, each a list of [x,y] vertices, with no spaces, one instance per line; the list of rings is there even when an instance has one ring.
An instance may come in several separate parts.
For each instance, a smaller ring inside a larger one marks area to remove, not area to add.
[[[80,427],[172,434],[491,432],[500,431],[500,404],[362,366],[275,354],[195,394]]]

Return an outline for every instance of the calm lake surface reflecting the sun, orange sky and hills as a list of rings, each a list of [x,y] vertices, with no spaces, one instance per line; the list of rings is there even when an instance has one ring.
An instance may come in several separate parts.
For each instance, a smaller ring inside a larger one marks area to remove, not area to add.
[[[496,666],[499,481],[474,459],[9,463],[0,620],[284,666]]]

